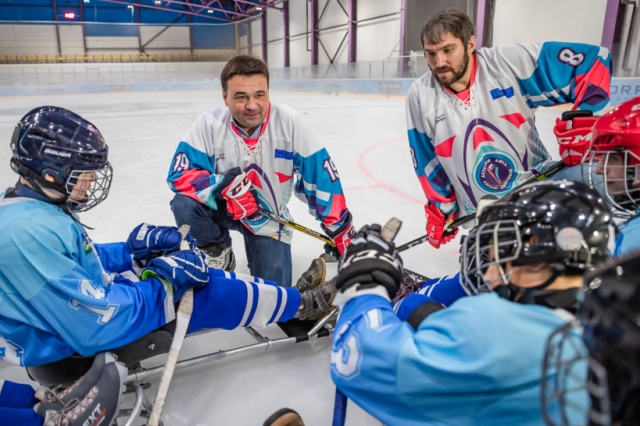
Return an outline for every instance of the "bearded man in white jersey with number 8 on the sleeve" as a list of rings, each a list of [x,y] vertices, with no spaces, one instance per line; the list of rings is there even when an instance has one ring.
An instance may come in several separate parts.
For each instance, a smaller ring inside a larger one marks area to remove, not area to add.
[[[609,106],[607,49],[547,42],[476,50],[473,32],[460,11],[429,18],[420,38],[430,71],[407,95],[411,156],[436,248],[455,237],[445,225],[473,213],[483,196],[504,196],[553,163],[535,127],[539,106],[573,103],[584,110],[554,129],[569,166],[579,165],[589,148],[591,115]],[[581,167],[570,167],[554,178],[581,176]]]

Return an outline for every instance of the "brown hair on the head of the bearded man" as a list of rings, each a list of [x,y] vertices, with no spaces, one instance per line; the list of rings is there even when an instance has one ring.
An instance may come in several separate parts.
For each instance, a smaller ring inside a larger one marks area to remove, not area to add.
[[[425,43],[438,44],[446,33],[451,33],[454,37],[462,40],[462,45],[466,48],[475,29],[466,13],[456,9],[442,10],[432,15],[422,26],[420,45],[424,46]]]

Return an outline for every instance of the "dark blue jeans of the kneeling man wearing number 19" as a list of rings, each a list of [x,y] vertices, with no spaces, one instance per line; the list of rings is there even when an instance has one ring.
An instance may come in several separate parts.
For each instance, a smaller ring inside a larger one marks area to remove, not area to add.
[[[291,245],[270,237],[255,235],[239,220],[232,220],[224,203],[213,210],[184,195],[171,200],[171,210],[178,226],[187,224],[199,247],[219,244],[231,246],[229,231],[238,231],[244,237],[244,247],[251,275],[291,287]]]

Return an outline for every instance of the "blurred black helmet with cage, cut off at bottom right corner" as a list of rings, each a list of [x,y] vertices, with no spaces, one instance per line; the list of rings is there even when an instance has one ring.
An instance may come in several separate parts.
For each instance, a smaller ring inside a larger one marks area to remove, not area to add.
[[[561,327],[547,342],[544,417],[549,425],[586,424],[587,417],[594,425],[638,425],[640,250],[589,273],[585,290],[580,324]],[[573,404],[587,392],[587,404]]]

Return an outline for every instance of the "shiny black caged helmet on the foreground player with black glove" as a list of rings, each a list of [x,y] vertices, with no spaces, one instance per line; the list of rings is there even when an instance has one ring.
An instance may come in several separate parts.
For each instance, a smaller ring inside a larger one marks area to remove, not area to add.
[[[483,275],[492,264],[502,282],[509,283],[507,262],[551,263],[555,277],[567,270],[582,274],[609,258],[614,234],[607,203],[582,182],[545,181],[518,188],[481,211],[478,226],[462,246],[462,285],[469,294],[490,290],[495,283]]]

